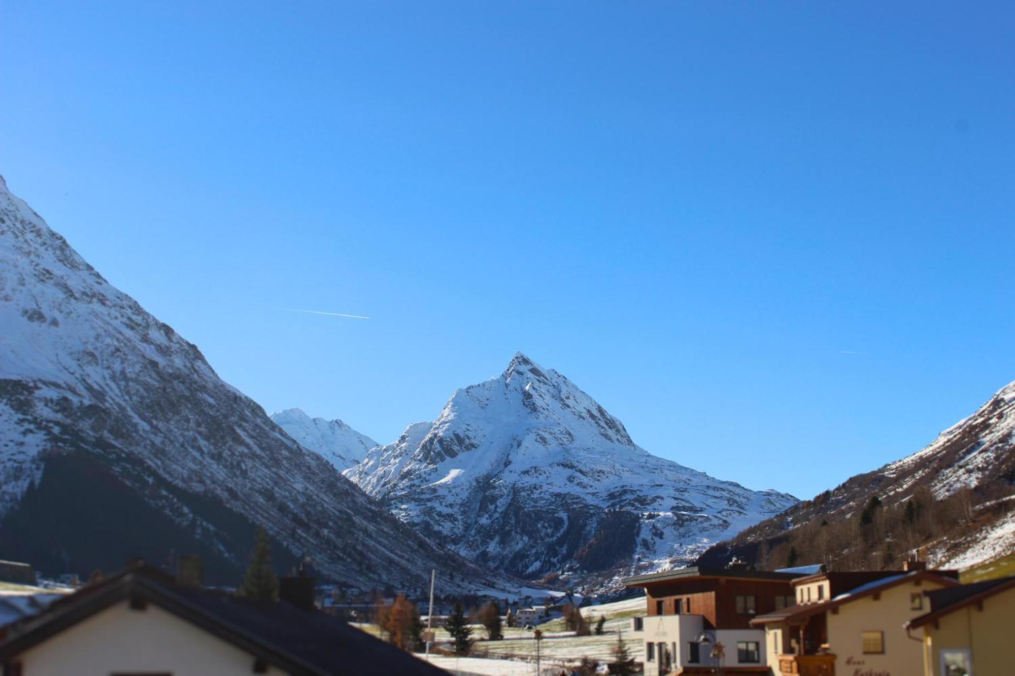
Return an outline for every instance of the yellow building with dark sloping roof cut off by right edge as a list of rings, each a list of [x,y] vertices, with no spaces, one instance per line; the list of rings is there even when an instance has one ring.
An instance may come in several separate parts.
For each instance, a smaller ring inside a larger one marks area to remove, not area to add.
[[[930,612],[906,624],[924,641],[924,676],[1007,676],[1012,667],[1015,578],[927,593]],[[921,635],[922,634],[922,635]]]

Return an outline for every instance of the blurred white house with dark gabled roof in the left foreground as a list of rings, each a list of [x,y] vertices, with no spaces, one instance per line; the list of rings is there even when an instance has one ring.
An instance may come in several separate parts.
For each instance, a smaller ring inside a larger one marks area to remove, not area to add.
[[[143,564],[13,625],[0,663],[5,676],[446,673],[326,613],[181,586]]]

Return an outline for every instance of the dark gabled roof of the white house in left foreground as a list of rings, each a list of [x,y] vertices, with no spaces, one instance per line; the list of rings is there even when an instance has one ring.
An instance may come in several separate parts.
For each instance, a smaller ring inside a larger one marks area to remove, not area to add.
[[[178,587],[166,578],[153,568],[135,567],[87,585],[15,627],[0,644],[0,660],[11,660],[94,613],[131,599],[153,603],[252,657],[298,676],[446,674],[326,613]]]

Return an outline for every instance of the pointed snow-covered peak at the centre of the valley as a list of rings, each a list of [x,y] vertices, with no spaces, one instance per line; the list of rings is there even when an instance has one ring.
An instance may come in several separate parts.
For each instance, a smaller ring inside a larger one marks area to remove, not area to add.
[[[684,562],[796,502],[649,454],[521,353],[346,476],[465,556],[529,578]]]

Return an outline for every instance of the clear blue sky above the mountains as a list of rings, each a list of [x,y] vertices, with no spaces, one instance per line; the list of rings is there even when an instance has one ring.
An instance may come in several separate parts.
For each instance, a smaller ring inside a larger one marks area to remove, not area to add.
[[[0,173],[269,411],[389,442],[522,350],[809,497],[1015,379],[1013,20],[2,0]]]

